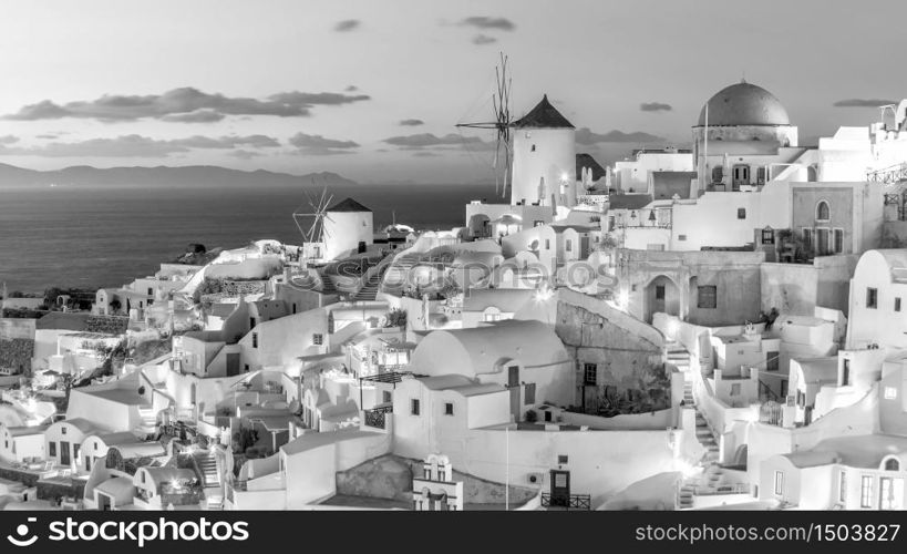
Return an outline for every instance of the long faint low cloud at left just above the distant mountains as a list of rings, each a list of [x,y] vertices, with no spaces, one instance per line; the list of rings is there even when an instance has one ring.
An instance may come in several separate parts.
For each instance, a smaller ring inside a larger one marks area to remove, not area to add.
[[[187,138],[156,140],[137,134],[114,138],[90,138],[79,142],[52,142],[42,146],[10,147],[0,145],[0,155],[43,157],[166,157],[192,150],[228,150],[237,146],[266,148],[279,146],[270,136],[189,136]]]

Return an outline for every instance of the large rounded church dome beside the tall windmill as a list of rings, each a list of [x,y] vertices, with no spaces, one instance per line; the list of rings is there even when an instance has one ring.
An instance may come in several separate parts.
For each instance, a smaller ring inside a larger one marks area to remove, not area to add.
[[[790,125],[787,110],[774,94],[745,81],[720,90],[709,100],[709,126]],[[705,125],[705,106],[699,126]]]

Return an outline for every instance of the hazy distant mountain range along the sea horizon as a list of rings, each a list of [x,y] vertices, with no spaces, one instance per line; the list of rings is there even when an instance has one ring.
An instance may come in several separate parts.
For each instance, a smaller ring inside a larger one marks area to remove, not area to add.
[[[265,170],[252,172],[229,170],[214,165],[188,165],[182,167],[110,167],[97,168],[87,165],[75,165],[55,171],[35,171],[0,164],[0,187],[4,186],[70,186],[70,185],[143,185],[143,186],[330,186],[338,188],[354,187],[355,181],[336,173],[321,172],[306,175],[291,175]]]

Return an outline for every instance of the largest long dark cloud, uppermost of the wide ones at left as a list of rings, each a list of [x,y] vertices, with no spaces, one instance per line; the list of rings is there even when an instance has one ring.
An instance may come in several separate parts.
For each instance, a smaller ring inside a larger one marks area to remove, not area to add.
[[[105,94],[90,101],[55,104],[50,100],[21,107],[6,120],[35,121],[62,117],[93,119],[103,122],[157,119],[176,122],[219,121],[227,115],[275,115],[301,117],[316,105],[341,105],[370,100],[364,94],[336,92],[281,92],[265,100],[209,94],[192,86],[173,89],[163,94]]]

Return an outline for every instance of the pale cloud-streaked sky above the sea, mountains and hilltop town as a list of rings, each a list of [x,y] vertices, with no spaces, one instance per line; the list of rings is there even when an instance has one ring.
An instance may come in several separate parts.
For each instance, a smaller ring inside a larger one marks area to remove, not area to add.
[[[690,141],[704,102],[764,86],[801,143],[907,96],[903,0],[3,0],[0,163],[213,164],[362,183],[492,175],[547,93],[602,164]],[[838,105],[836,105],[838,104]]]

